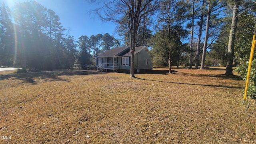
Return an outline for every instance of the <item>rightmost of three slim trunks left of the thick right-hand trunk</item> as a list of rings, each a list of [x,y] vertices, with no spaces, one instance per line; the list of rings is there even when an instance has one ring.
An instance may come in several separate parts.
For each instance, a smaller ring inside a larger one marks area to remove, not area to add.
[[[208,10],[207,10],[207,21],[206,21],[206,30],[205,30],[205,38],[204,38],[204,48],[203,48],[203,54],[202,54],[202,62],[200,69],[204,69],[204,61],[206,56],[206,48],[207,48],[207,42],[208,42],[208,33],[209,33],[209,27],[210,27],[210,4],[208,4]]]

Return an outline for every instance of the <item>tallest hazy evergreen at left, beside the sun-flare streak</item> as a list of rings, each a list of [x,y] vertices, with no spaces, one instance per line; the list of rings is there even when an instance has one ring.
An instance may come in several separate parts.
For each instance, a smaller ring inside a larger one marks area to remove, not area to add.
[[[42,28],[46,26],[46,8],[36,1],[16,3],[14,20],[19,26],[22,68],[41,68],[44,46]]]

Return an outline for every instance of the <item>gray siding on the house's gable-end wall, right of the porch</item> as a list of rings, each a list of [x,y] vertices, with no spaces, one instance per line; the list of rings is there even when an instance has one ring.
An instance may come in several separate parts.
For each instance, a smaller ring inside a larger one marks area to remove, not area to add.
[[[146,65],[146,58],[148,58],[148,65]],[[153,63],[152,58],[148,55],[147,50],[141,50],[134,56],[135,69],[152,69]]]

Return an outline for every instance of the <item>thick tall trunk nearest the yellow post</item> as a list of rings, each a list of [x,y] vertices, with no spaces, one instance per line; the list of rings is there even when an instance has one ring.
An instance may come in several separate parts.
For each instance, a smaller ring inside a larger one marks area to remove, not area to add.
[[[228,53],[227,53],[227,65],[226,65],[226,76],[232,76],[233,75],[233,59],[234,59],[234,42],[235,42],[235,35],[236,35],[236,25],[238,22],[238,2],[237,0],[234,0],[234,6],[233,6],[233,16],[232,16],[232,23],[229,33],[229,39],[228,39]]]

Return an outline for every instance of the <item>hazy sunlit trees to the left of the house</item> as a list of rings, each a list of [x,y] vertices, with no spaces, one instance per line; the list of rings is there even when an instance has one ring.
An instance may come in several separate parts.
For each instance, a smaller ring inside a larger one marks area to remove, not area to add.
[[[120,46],[110,34],[81,36],[63,28],[59,16],[36,1],[0,5],[0,66],[35,69],[69,68],[92,63],[101,52]]]

